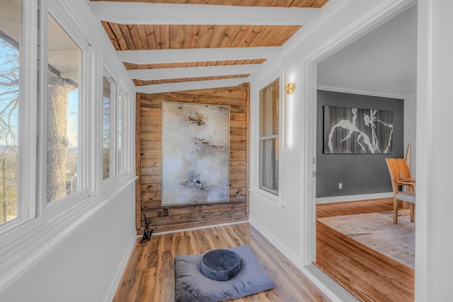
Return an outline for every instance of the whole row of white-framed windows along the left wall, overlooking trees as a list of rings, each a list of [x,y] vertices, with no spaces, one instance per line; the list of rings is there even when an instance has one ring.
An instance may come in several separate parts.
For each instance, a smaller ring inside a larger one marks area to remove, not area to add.
[[[127,93],[60,8],[0,1],[0,236],[128,176]]]

